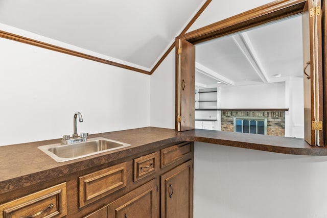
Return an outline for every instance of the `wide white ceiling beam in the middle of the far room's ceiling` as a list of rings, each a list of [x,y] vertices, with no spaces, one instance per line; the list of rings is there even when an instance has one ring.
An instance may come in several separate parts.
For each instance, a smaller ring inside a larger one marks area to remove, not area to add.
[[[232,39],[239,47],[241,52],[244,54],[246,59],[249,61],[249,63],[253,67],[256,74],[258,74],[262,82],[268,83],[269,78],[267,76],[266,70],[261,63],[259,56],[256,54],[256,51],[252,45],[249,36],[246,33],[239,33],[233,35]]]

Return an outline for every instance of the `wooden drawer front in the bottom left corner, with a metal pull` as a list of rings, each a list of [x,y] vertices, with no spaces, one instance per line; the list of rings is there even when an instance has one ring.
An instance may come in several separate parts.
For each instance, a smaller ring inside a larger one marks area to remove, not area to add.
[[[61,183],[0,205],[0,218],[63,217],[66,199],[66,183]]]

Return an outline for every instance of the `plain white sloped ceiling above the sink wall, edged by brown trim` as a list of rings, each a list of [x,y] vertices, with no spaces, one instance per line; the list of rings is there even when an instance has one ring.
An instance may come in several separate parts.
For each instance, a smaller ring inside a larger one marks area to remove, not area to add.
[[[151,69],[204,2],[0,0],[0,23]]]

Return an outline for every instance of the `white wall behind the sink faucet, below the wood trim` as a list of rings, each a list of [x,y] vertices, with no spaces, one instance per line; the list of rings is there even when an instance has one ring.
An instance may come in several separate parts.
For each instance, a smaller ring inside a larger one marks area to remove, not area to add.
[[[150,125],[150,76],[0,38],[0,145]]]

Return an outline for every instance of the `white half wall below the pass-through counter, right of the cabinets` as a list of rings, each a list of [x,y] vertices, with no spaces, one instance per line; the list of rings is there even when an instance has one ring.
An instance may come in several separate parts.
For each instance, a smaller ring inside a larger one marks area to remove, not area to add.
[[[194,217],[327,217],[327,157],[195,143]]]

